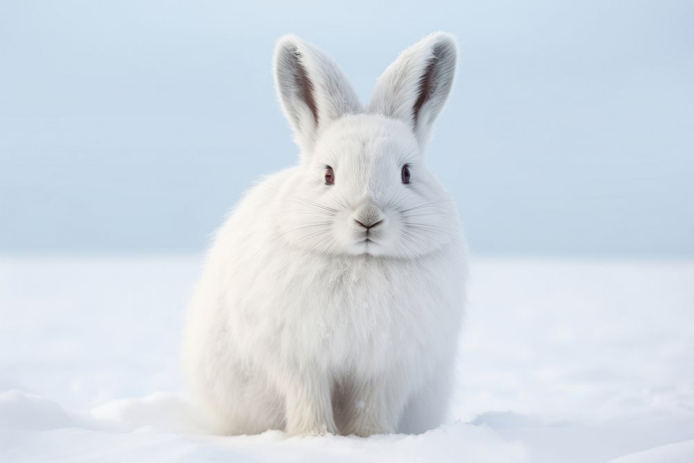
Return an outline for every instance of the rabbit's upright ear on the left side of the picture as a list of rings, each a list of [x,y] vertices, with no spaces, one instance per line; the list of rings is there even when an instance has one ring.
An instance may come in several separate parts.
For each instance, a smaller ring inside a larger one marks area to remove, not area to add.
[[[311,151],[319,129],[362,110],[344,73],[328,53],[295,35],[275,48],[275,84],[296,142]]]

